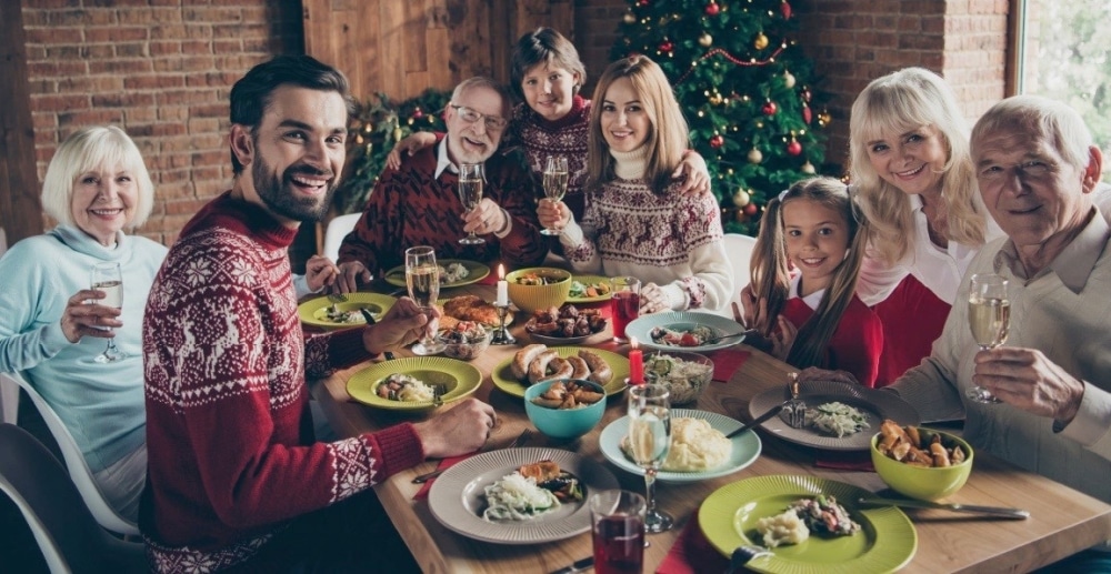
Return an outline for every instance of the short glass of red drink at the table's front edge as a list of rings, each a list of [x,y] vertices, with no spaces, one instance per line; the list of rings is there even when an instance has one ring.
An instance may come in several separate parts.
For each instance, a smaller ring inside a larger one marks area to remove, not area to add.
[[[644,497],[629,491],[590,495],[595,574],[639,574],[644,564]]]

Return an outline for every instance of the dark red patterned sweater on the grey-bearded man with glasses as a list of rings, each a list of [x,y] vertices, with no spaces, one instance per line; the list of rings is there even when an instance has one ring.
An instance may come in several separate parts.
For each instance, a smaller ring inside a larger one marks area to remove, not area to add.
[[[434,178],[437,144],[402,158],[401,169],[384,171],[367,200],[354,231],[340,244],[339,263],[360,261],[372,273],[404,262],[404,251],[431,245],[438,259],[503,260],[509,266],[530,266],[543,261],[547,245],[540,235],[532,182],[511,158],[496,153],[486,161],[483,197],[504,209],[513,220],[508,235],[482,235],[486,243],[463,245],[463,204],[457,190],[458,175],[444,170]]]

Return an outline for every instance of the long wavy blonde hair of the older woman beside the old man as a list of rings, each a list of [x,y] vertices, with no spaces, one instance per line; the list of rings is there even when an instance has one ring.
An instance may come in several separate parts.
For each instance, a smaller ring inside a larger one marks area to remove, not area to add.
[[[977,203],[975,169],[969,152],[968,122],[952,89],[923,68],[905,68],[873,80],[852,104],[849,119],[849,177],[860,190],[860,207],[872,224],[872,244],[880,258],[894,264],[914,241],[910,198],[872,168],[868,142],[883,133],[937,129],[948,160],[941,175],[941,200],[947,213],[947,239],[965,245],[984,241],[983,210]]]

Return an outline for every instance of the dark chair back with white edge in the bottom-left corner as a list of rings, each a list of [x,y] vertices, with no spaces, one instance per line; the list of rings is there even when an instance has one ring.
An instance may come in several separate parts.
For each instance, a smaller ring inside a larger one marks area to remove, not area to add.
[[[0,491],[16,503],[52,573],[146,572],[141,542],[102,528],[66,469],[30,433],[0,424]]]

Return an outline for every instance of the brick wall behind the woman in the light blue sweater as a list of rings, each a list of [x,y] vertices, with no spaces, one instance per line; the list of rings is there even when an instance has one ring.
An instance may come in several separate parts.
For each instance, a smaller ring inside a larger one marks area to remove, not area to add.
[[[251,66],[303,51],[297,0],[23,2],[39,178],[74,130],[113,123],[156,185],[139,230],[171,243],[231,183],[228,94]]]

